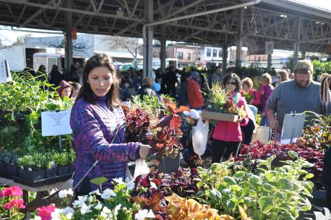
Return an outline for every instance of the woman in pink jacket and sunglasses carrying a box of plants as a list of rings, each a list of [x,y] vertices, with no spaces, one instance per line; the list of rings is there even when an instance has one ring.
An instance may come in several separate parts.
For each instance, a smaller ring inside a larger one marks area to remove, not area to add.
[[[229,99],[235,106],[246,110],[246,101],[241,97],[241,81],[237,74],[231,73],[224,77],[223,85],[231,92]],[[240,126],[248,124],[248,115],[236,122],[218,121],[212,133],[212,163],[219,163],[221,158],[228,159],[236,154],[239,143],[243,140]]]

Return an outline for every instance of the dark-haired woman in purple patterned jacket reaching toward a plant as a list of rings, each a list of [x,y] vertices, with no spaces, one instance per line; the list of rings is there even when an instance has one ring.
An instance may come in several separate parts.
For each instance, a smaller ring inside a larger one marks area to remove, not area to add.
[[[128,161],[146,159],[150,146],[126,143],[126,123],[119,101],[119,79],[112,60],[97,54],[87,62],[81,88],[70,115],[76,162],[74,186],[99,161],[76,189],[77,195],[98,188],[90,179],[106,177],[103,188],[112,188],[112,179],[126,179]]]

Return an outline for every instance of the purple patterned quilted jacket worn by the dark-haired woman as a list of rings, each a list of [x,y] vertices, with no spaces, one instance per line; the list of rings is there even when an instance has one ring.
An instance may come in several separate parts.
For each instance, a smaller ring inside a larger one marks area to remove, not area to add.
[[[106,97],[93,96],[97,105],[77,99],[72,107],[70,126],[74,139],[76,163],[74,164],[74,186],[99,160],[88,175],[88,179],[106,177],[103,188],[112,188],[114,178],[126,178],[126,166],[129,160],[139,159],[139,143],[126,143],[125,118],[121,108],[108,108]],[[116,134],[117,124],[119,132]],[[110,143],[114,139],[113,143]],[[91,183],[91,190],[97,185]],[[80,190],[80,186],[77,188]],[[83,189],[82,189],[83,190]]]

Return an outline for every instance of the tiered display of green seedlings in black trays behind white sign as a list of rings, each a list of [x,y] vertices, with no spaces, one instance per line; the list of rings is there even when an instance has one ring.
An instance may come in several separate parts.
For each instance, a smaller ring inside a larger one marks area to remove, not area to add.
[[[13,74],[0,84],[0,177],[40,187],[72,176],[71,134],[41,136],[41,112],[66,110],[73,101],[60,99],[51,85]]]

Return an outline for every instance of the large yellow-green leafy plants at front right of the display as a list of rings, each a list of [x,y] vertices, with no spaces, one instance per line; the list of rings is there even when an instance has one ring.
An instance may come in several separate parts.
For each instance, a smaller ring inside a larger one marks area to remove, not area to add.
[[[312,188],[308,179],[313,175],[303,170],[312,164],[297,157],[290,151],[295,161],[282,161],[285,166],[272,168],[272,155],[266,160],[256,161],[257,170],[248,172],[244,166],[235,166],[232,175],[222,177],[212,188],[201,186],[197,197],[212,208],[239,217],[238,207],[247,207],[252,219],[297,219],[299,211],[310,210]]]

